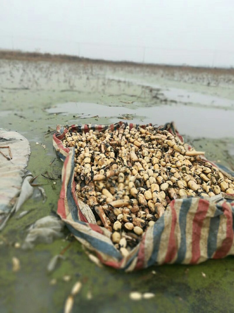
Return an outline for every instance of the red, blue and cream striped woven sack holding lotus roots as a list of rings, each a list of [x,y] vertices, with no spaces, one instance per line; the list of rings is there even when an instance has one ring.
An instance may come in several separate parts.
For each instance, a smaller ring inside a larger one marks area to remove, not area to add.
[[[110,231],[98,226],[89,206],[76,197],[75,149],[64,147],[62,140],[68,131],[115,130],[126,125],[127,123],[119,122],[109,126],[57,126],[53,145],[64,161],[57,214],[75,238],[95,253],[103,264],[125,271],[143,269],[153,264],[198,264],[207,259],[234,254],[234,197],[227,196],[226,199],[221,195],[211,197],[209,201],[198,197],[173,200],[154,226],[147,228],[142,240],[128,256],[120,254],[111,241]],[[130,129],[135,126],[138,125],[129,124]],[[168,123],[161,129],[167,129],[183,141],[173,123]],[[214,163],[212,165],[217,166]],[[228,177],[234,176],[226,167],[217,167]]]

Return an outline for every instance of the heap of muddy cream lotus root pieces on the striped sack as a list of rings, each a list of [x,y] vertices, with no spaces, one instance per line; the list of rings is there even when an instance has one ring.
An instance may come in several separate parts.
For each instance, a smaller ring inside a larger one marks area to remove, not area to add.
[[[77,197],[124,256],[171,200],[234,193],[234,181],[203,160],[204,152],[153,126],[67,132],[63,145],[75,147]]]

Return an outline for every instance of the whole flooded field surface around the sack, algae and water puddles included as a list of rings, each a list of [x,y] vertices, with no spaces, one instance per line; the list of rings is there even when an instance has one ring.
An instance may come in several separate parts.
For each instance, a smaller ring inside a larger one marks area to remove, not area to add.
[[[234,170],[233,90],[232,75],[205,70],[0,60],[0,128],[29,140],[28,169],[39,175],[36,182],[47,194],[44,204],[29,199],[0,233],[0,311],[63,312],[71,287],[80,280],[73,312],[233,312],[232,257],[126,274],[92,263],[67,229],[53,244],[28,251],[15,247],[22,245],[32,223],[56,212],[62,162],[50,131],[57,124],[175,121],[185,141]],[[46,172],[56,184],[41,176]],[[25,210],[30,212],[17,219]],[[65,260],[48,274],[50,259],[68,246]],[[20,260],[17,273],[12,272],[12,257]],[[71,279],[64,281],[64,275]],[[155,297],[133,301],[131,291],[153,292]]]

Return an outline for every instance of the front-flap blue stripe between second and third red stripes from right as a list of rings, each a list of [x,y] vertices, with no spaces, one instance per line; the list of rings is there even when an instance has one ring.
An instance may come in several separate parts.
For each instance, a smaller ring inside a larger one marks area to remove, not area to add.
[[[186,220],[189,209],[192,205],[192,198],[185,198],[180,207],[179,227],[180,227],[180,247],[178,249],[175,263],[182,263],[186,255]]]

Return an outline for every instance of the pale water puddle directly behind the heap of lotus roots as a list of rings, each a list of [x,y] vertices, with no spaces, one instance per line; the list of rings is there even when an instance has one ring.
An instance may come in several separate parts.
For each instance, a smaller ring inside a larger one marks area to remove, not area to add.
[[[234,111],[193,107],[182,104],[158,105],[151,107],[139,107],[138,103],[132,104],[132,109],[122,106],[106,106],[96,103],[67,102],[46,109],[50,114],[76,115],[79,118],[71,118],[71,124],[82,122],[89,123],[91,117],[106,117],[110,123],[118,120],[137,124],[162,125],[174,121],[181,134],[192,137],[224,138],[232,137],[230,126],[234,120]],[[92,121],[93,122],[93,121]],[[222,127],[220,127],[222,125]]]

